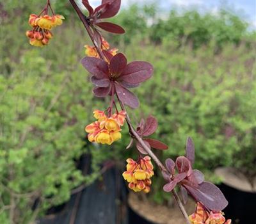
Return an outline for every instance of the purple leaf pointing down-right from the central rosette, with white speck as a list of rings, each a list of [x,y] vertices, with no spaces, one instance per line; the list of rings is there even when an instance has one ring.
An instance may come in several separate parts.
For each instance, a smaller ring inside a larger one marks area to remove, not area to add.
[[[138,108],[139,106],[139,100],[132,92],[127,90],[126,88],[120,86],[120,84],[115,83],[116,87],[116,94],[118,95],[118,98],[127,106],[130,106],[131,108]]]

